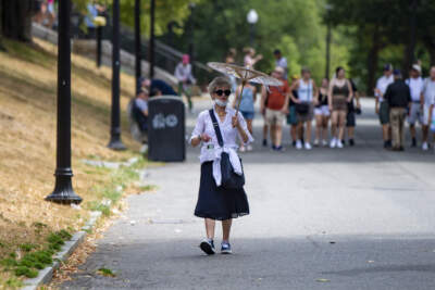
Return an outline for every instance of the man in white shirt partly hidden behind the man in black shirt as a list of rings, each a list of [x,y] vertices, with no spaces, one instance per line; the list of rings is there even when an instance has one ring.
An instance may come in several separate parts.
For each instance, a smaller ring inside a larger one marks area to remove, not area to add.
[[[376,88],[374,89],[376,96],[375,112],[380,116],[382,125],[382,136],[384,139],[384,148],[391,147],[391,129],[389,127],[389,108],[388,102],[384,101],[384,94],[387,87],[394,83],[393,65],[384,65],[384,75],[377,79]]]

